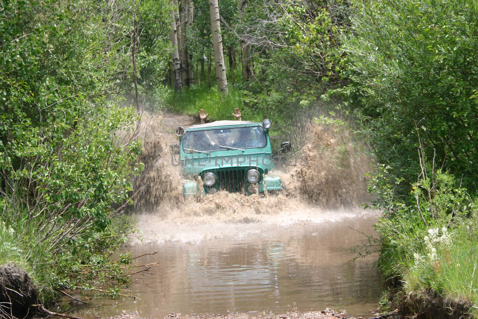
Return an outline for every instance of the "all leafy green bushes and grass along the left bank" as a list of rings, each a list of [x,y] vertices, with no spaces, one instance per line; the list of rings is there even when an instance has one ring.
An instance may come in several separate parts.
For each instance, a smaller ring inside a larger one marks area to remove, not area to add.
[[[138,65],[147,88],[161,78],[170,12],[141,3]],[[142,169],[141,144],[125,138],[136,111],[110,95],[131,87],[129,4],[0,5],[0,264],[29,271],[43,302],[59,288],[110,283],[114,295],[128,282],[121,270],[130,256],[109,256],[131,231],[114,221]]]

